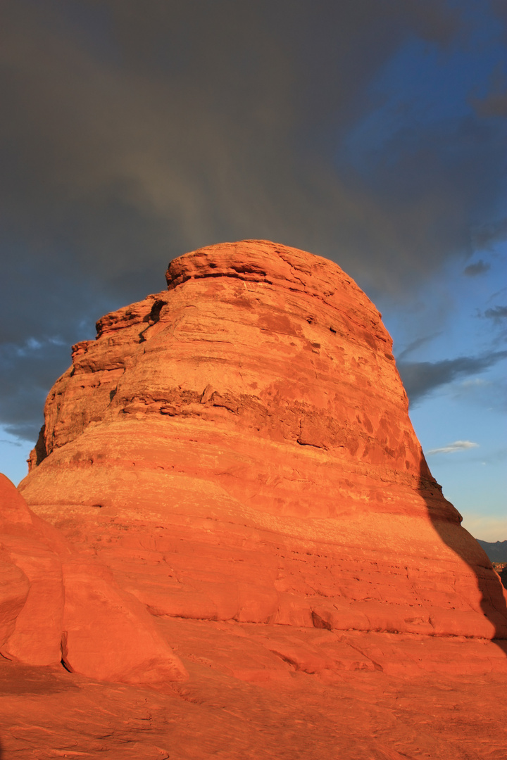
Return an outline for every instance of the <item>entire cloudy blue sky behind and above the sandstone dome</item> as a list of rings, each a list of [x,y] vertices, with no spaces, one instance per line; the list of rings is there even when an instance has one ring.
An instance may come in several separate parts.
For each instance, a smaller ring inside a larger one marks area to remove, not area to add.
[[[445,496],[476,537],[507,539],[500,9],[8,2],[0,470],[24,476],[100,315],[162,290],[176,255],[267,238],[366,290]]]

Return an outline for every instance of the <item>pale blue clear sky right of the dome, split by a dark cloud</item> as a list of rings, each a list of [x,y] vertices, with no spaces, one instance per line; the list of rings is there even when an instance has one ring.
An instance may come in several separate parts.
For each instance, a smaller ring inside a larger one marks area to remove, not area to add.
[[[496,312],[507,296],[506,254],[504,245],[483,257],[490,269],[476,277],[449,266],[442,281],[435,283],[433,298],[412,312],[407,309],[401,315],[387,305],[384,320],[395,337],[395,356],[417,340],[424,342],[406,359],[415,355],[417,362],[433,366],[505,352],[505,318]],[[493,313],[487,316],[488,312]],[[430,389],[410,408],[417,437],[445,497],[463,515],[464,527],[489,541],[507,538],[506,377],[507,355]],[[452,447],[455,442],[458,445]]]

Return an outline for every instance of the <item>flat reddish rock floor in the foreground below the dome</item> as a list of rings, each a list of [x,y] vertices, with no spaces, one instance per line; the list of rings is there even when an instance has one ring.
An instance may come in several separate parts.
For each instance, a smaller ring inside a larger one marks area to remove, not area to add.
[[[0,659],[2,760],[504,756],[505,642],[159,622],[186,682],[142,689]]]

